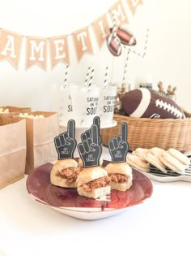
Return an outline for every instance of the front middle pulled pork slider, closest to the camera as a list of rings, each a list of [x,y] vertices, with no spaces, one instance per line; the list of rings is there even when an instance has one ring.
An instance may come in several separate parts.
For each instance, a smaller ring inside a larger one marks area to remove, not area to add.
[[[80,196],[96,199],[111,193],[108,173],[102,167],[84,168],[76,182]]]

